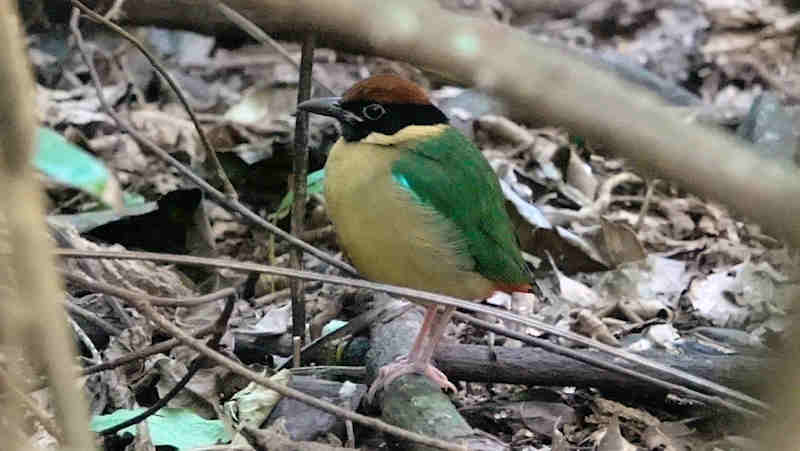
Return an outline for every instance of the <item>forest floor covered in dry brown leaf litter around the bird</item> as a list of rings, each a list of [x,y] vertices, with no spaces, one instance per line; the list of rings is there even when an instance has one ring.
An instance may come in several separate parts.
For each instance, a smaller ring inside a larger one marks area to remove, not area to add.
[[[685,111],[687,120],[739,134],[770,158],[792,165],[800,161],[796,155],[800,122],[795,106],[800,100],[800,71],[794,55],[798,39],[794,30],[800,18],[780,3],[441,3],[580,52],[659,94],[671,107]],[[102,26],[84,20],[81,29],[106,101],[144,136],[203,178],[213,180],[210,159],[186,110],[152,64]],[[271,239],[267,232],[208,197],[199,197],[195,185],[117,126],[98,100],[89,68],[66,24],[29,17],[27,30],[37,82],[38,119],[104,161],[131,208],[123,214],[109,214],[86,193],[45,181],[48,215],[58,230],[61,247],[124,247],[288,264],[285,243]],[[274,48],[250,41],[157,28],[129,31],[164,62],[187,94],[240,200],[288,230],[285,198],[292,173],[297,69]],[[299,45],[281,45],[299,60]],[[680,354],[689,362],[715,355],[735,364],[737,356],[745,356],[761,358],[767,364],[770,356],[779,355],[789,307],[800,290],[794,269],[796,255],[780,240],[762,232],[752,220],[733,215],[724,205],[700,198],[669,180],[640,173],[614,157],[614,149],[587,142],[559,124],[520,123],[499,100],[449,85],[436,74],[401,62],[326,48],[317,49],[314,58],[315,76],[336,93],[359,79],[387,71],[429,89],[434,102],[475,141],[509,188],[509,208],[516,212],[520,241],[535,269],[536,290],[531,296],[493,297],[492,305],[607,344],[647,351],[656,360],[660,354]],[[315,95],[325,93],[317,89]],[[322,169],[337,134],[331,121],[311,118],[310,173]],[[643,211],[648,186],[652,193],[649,207]],[[313,184],[310,192],[303,237],[337,254],[319,183]],[[341,275],[308,254],[303,264],[307,270]],[[137,261],[67,260],[64,267],[94,280],[170,298],[199,296],[246,279],[229,270]],[[227,353],[268,373],[291,353],[287,286],[285,279],[262,276],[248,296],[235,301],[230,327],[222,339]],[[305,288],[312,339],[362,313],[374,300],[369,293],[329,283],[308,283]],[[115,308],[119,304],[109,302],[107,295],[72,284],[67,291],[70,303],[113,326],[99,327],[85,315],[71,312],[75,327],[88,339],[79,341],[84,366],[165,339],[133,309]],[[159,309],[189,329],[212,324],[224,305],[224,300],[217,300]],[[519,331],[567,344],[532,328]],[[485,345],[489,336],[456,321],[446,340]],[[272,348],[265,348],[264,343]],[[495,344],[522,345],[502,337]],[[108,418],[104,415],[151,405],[186,373],[193,358],[187,348],[175,347],[87,376],[92,415],[101,424]],[[757,381],[744,373],[740,380],[736,375],[725,377],[734,380],[733,388],[753,396],[763,394],[754,388]],[[336,377],[340,383],[345,379],[364,383],[363,375],[357,373]],[[168,405],[185,409],[203,424],[223,424],[229,421],[223,406],[241,385],[228,369],[203,368]],[[758,449],[743,427],[747,421],[679,396],[645,400],[593,386],[459,382],[459,387],[453,400],[462,415],[473,427],[512,449]],[[45,391],[37,396],[45,407],[51,407]],[[353,408],[359,400],[350,400]],[[348,440],[342,425],[336,421],[325,427],[317,425],[313,432],[301,435],[342,446]],[[202,443],[156,438],[161,427],[166,428],[167,436],[180,435],[177,429],[170,429],[176,427],[174,423],[150,423],[156,445],[192,449]],[[32,425],[30,432],[42,447],[54,446],[44,430]],[[355,443],[362,449],[385,446],[383,436],[366,428],[355,430]],[[125,449],[133,445],[107,446]]]

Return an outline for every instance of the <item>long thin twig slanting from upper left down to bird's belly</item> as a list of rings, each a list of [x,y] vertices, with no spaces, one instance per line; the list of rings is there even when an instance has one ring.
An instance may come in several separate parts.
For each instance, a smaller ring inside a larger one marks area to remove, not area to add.
[[[268,221],[264,220],[264,218],[258,216],[252,210],[242,205],[238,200],[233,200],[228,198],[218,189],[209,185],[208,182],[203,180],[201,177],[197,176],[197,174],[192,172],[192,170],[187,168],[183,163],[176,160],[172,155],[169,154],[169,152],[167,152],[166,150],[162,149],[161,147],[150,141],[148,138],[146,138],[141,133],[136,131],[136,129],[131,127],[127,122],[123,121],[122,118],[116,113],[116,111],[114,111],[114,109],[111,107],[111,105],[108,103],[105,96],[103,95],[103,88],[102,84],[100,83],[100,76],[97,75],[97,70],[95,69],[92,60],[89,57],[89,52],[86,49],[86,44],[83,41],[83,34],[81,34],[80,32],[80,28],[78,28],[77,22],[75,24],[72,24],[71,29],[72,33],[75,35],[76,42],[78,44],[78,49],[80,50],[81,53],[81,57],[83,58],[84,63],[89,68],[89,75],[92,78],[92,83],[94,84],[95,91],[97,92],[98,100],[100,101],[100,104],[103,106],[103,109],[106,111],[106,113],[111,117],[111,119],[117,124],[117,126],[120,129],[128,133],[143,147],[153,152],[153,154],[155,154],[159,159],[169,164],[170,166],[174,167],[184,177],[189,179],[192,183],[196,184],[200,189],[206,192],[211,198],[217,201],[226,210],[232,213],[238,213],[251,223],[267,229],[270,233],[277,235],[280,238],[283,238],[289,244],[303,249],[309,254],[314,255],[315,257],[324,261],[325,263],[328,263],[330,265],[333,265],[341,269],[347,274],[352,274],[352,275],[358,274],[355,268],[348,265],[347,263],[341,260],[337,260],[335,257],[328,254],[327,252],[319,250],[314,246],[311,246],[310,244],[292,236],[291,234],[284,232],[280,227],[277,227],[274,224],[270,224]]]

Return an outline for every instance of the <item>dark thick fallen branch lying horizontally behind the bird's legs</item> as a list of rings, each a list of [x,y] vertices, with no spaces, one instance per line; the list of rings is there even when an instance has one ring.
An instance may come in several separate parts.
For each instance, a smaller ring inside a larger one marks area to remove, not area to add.
[[[414,336],[414,331],[419,328],[420,318],[416,318],[417,323],[411,322],[404,317],[406,323],[405,334]],[[468,315],[460,314],[459,320],[469,321]],[[381,320],[376,321],[379,323]],[[392,320],[394,323],[396,320]],[[485,322],[479,322],[481,327]],[[399,327],[399,326],[395,326]],[[515,334],[513,331],[496,327],[496,333],[510,336],[514,339],[523,339],[522,334]],[[381,332],[386,334],[386,332]],[[396,333],[396,340],[403,340],[404,335]],[[394,336],[392,336],[394,337]],[[533,337],[527,337],[529,343],[540,343],[541,339],[531,341]],[[387,338],[373,338],[372,346],[377,342],[380,349],[373,351],[379,355],[387,353],[390,357],[402,354],[394,350],[395,345],[388,342]],[[384,343],[383,341],[387,341]],[[553,347],[557,346],[550,343]],[[384,349],[390,348],[390,351]],[[369,362],[369,349],[362,343],[356,343],[354,348],[349,345],[337,347],[338,352],[317,353],[318,365],[364,365],[370,367],[380,366],[379,363]],[[288,350],[282,350],[287,353]],[[632,378],[622,374],[617,370],[601,368],[596,365],[596,361],[605,361],[602,354],[590,350],[572,349],[573,355],[568,356],[559,352],[537,347],[523,348],[492,348],[483,345],[462,345],[462,344],[441,344],[437,347],[434,359],[439,369],[445,372],[453,380],[465,382],[490,382],[502,384],[519,385],[541,385],[541,386],[575,386],[585,388],[597,388],[606,393],[624,395],[628,398],[653,398],[663,397],[668,393],[675,393],[675,385],[680,384],[680,379],[669,375],[662,376],[656,381]],[[660,364],[669,365],[710,381],[724,384],[749,393],[758,393],[759,382],[762,377],[771,377],[778,359],[776,357],[766,357],[750,354],[708,354],[693,351],[691,347],[682,348],[682,352],[672,354],[666,351],[649,350],[640,353],[650,360]],[[342,355],[346,355],[346,361],[342,361]],[[580,356],[583,362],[576,358]],[[374,360],[374,356],[372,359]],[[595,364],[588,363],[595,362]],[[628,362],[618,362],[617,365],[635,372],[646,373],[647,369]],[[374,371],[374,368],[373,368]],[[437,389],[438,390],[438,389]]]

